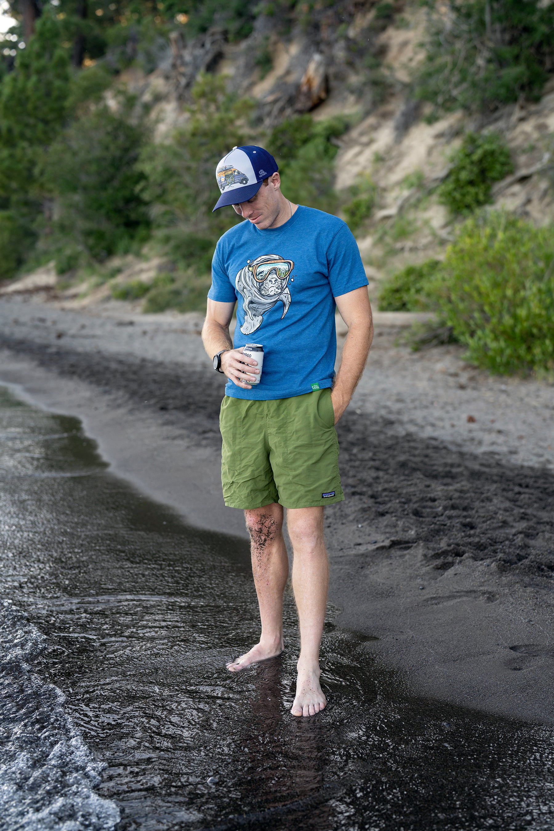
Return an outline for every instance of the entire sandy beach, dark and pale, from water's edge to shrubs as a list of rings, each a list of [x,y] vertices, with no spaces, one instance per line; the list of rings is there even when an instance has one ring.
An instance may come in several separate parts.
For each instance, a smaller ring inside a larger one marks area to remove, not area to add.
[[[218,485],[223,379],[194,327],[21,301],[0,321],[0,380],[85,416],[114,470],[192,524],[244,537]],[[326,513],[339,622],[417,691],[552,724],[552,386],[375,342],[338,425],[346,502]]]

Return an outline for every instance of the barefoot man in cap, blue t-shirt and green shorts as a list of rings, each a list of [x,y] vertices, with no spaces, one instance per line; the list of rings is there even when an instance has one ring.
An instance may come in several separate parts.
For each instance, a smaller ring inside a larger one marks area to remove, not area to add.
[[[213,210],[233,205],[244,222],[223,234],[213,255],[202,336],[214,368],[228,376],[220,416],[223,496],[244,510],[262,621],[259,643],[228,670],[283,650],[286,508],[301,635],[291,712],[314,715],[326,706],[319,667],[329,583],[323,507],[344,499],[335,425],[373,337],[367,279],[346,224],[286,199],[267,150],[233,147],[216,178],[221,196]],[[335,376],[336,307],[348,335]],[[263,347],[261,370],[256,352],[243,355],[249,342]]]

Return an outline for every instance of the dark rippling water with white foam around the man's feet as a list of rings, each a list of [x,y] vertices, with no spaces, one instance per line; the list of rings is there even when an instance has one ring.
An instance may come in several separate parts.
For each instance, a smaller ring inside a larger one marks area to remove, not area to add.
[[[257,636],[242,540],[185,526],[76,419],[2,390],[0,453],[0,827],[552,829],[551,729],[414,696],[333,609],[329,705],[293,719],[290,597],[287,652],[225,669]]]

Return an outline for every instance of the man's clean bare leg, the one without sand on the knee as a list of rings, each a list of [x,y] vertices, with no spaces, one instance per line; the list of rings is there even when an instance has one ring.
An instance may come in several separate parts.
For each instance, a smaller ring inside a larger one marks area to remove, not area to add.
[[[323,539],[323,508],[287,509],[292,542],[292,588],[297,602],[301,650],[292,715],[314,715],[326,706],[319,682],[319,647],[325,620],[329,563]]]

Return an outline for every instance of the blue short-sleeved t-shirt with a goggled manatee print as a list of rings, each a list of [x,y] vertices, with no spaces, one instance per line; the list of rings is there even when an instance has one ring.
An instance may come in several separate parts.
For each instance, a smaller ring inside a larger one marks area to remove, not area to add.
[[[278,228],[248,222],[220,238],[208,297],[238,301],[235,348],[263,347],[262,380],[250,390],[228,381],[234,398],[302,396],[332,385],[335,297],[367,285],[350,229],[336,216],[299,205]]]

